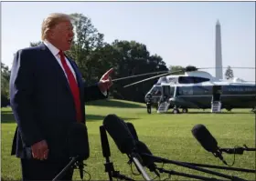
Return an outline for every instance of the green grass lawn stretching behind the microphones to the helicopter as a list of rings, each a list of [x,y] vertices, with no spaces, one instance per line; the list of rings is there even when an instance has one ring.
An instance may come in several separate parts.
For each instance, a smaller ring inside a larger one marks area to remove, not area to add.
[[[10,156],[12,139],[16,129],[16,123],[11,109],[1,109],[2,121],[2,159],[1,174],[3,180],[21,179],[21,170],[19,159]],[[143,104],[137,104],[125,101],[98,101],[86,106],[87,126],[89,132],[91,156],[85,161],[86,170],[91,174],[91,180],[107,180],[109,177],[104,172],[105,158],[101,152],[101,139],[99,126],[102,120],[108,114],[121,116],[124,121],[133,123],[139,139],[143,141],[155,156],[162,156],[167,159],[193,162],[200,164],[209,164],[225,166],[212,154],[208,153],[191,134],[191,129],[197,124],[207,126],[210,133],[217,139],[220,147],[243,146],[255,147],[255,115],[250,110],[232,110],[231,113],[223,111],[223,114],[208,114],[198,110],[188,110],[188,114],[157,114],[155,109],[151,115],[146,113]],[[133,179],[143,180],[142,176],[133,176],[133,172],[138,173],[133,165],[127,164],[128,158],[123,155],[114,145],[109,136],[112,156],[111,161],[116,170]],[[233,155],[223,154],[228,164],[232,164]],[[157,165],[161,167],[162,165]],[[255,169],[255,152],[244,152],[243,155],[235,157],[233,167],[242,167]],[[188,169],[182,166],[165,165],[165,169],[184,172],[198,176],[213,176],[196,170]],[[248,180],[255,180],[255,174],[246,174],[234,171],[223,171],[211,169],[220,173],[240,176]],[[147,173],[154,178],[153,173]],[[161,175],[161,180],[167,178],[166,174]],[[219,178],[218,176],[213,176]],[[80,180],[79,171],[76,170],[73,176],[74,180]],[[85,176],[88,179],[88,176]],[[171,180],[187,180],[184,176],[171,176]],[[157,180],[157,179],[156,179]]]

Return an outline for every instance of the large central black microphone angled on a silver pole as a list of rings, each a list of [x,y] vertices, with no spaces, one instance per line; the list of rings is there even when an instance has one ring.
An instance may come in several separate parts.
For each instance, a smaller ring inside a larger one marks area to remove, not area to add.
[[[127,156],[132,158],[133,163],[140,170],[146,180],[151,180],[138,160],[140,156],[136,153],[135,140],[125,122],[116,115],[108,115],[103,120],[103,126],[109,135],[112,136],[112,139],[118,149],[123,154],[127,154]]]

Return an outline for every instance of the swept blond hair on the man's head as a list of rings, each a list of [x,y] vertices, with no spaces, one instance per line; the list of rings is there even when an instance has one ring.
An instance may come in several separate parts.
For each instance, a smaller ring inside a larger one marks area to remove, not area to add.
[[[62,13],[53,13],[48,15],[42,23],[41,39],[45,40],[48,30],[64,21],[71,21],[71,16]]]

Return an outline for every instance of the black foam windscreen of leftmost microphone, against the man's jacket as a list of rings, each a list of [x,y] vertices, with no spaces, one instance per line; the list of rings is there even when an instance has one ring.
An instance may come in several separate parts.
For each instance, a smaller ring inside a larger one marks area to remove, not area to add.
[[[72,123],[69,127],[69,156],[80,156],[87,159],[90,156],[87,127],[82,123]]]

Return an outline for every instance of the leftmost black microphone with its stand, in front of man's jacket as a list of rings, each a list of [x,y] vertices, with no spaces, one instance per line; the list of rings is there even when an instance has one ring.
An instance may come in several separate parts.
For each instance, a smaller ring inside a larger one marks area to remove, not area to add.
[[[90,156],[87,127],[82,123],[72,123],[68,131],[69,164],[53,180],[59,180],[75,163],[79,166],[80,177],[83,178],[83,160]]]

